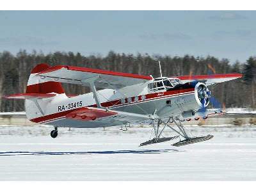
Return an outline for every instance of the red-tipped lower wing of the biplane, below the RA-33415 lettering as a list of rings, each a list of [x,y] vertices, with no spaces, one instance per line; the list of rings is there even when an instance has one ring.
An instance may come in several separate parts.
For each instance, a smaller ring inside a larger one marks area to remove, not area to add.
[[[150,120],[151,116],[140,115],[136,113],[127,113],[122,111],[101,109],[101,108],[81,108],[76,109],[66,115],[66,118],[81,121],[95,121],[95,122],[123,122],[135,123]]]

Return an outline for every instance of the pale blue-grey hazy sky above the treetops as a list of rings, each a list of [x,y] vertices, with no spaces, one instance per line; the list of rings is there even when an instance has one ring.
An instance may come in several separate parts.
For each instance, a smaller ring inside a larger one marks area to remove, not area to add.
[[[1,11],[0,52],[256,56],[255,11]]]

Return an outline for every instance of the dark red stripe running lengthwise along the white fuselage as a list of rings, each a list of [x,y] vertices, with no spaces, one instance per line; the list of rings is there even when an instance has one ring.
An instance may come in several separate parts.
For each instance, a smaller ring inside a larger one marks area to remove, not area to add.
[[[185,93],[190,93],[193,92],[194,88],[189,88],[189,89],[184,89],[184,90],[173,90],[173,91],[168,91],[168,92],[159,92],[159,93],[150,93],[146,96],[145,100],[138,100],[138,102],[145,102],[148,100],[154,100],[154,99],[161,99],[164,97],[168,97],[168,96],[172,96],[172,95],[177,95],[177,94],[185,94]],[[141,98],[141,97],[139,97]],[[131,102],[131,103],[125,103],[125,104],[121,104],[120,99],[118,100],[111,100],[108,102],[103,102],[101,103],[101,106],[103,107],[119,107],[119,106],[126,106],[128,104],[136,104],[137,102]],[[92,106],[87,106],[87,107],[97,107],[96,104],[92,105]],[[86,107],[83,107],[86,108]],[[33,118],[31,119],[31,122],[35,122],[35,123],[40,123],[40,122],[45,122],[45,121],[51,121],[51,120],[55,120],[56,118],[61,118],[66,116],[68,113],[71,113],[74,110],[77,109],[83,109],[83,108],[76,108],[76,109],[71,109],[68,111],[62,111],[59,113],[53,113],[51,115],[45,115],[45,116],[40,116],[38,118]]]

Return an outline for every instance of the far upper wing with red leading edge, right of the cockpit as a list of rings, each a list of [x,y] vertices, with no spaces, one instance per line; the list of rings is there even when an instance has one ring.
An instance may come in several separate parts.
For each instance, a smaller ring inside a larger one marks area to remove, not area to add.
[[[200,76],[179,76],[182,83],[188,83],[192,81],[202,81],[205,84],[221,83],[224,81],[230,81],[242,77],[242,74],[212,74],[212,75],[200,75]]]

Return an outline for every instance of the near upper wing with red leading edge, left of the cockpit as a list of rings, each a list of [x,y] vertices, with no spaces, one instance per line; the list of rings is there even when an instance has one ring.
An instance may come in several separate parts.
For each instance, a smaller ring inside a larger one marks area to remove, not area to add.
[[[144,83],[152,79],[150,76],[128,74],[99,70],[94,68],[73,67],[57,65],[37,74],[44,81],[57,81],[60,83],[83,84],[95,79],[95,86],[99,88],[122,88],[132,84]]]

